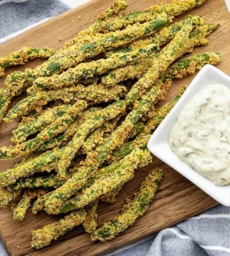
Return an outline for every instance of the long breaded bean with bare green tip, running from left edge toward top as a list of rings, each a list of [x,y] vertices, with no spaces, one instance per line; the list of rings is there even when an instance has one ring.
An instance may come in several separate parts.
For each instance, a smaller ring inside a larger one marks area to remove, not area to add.
[[[120,47],[121,45],[132,42],[142,36],[151,35],[158,29],[166,26],[169,22],[169,17],[162,13],[156,20],[146,22],[145,24],[135,24],[128,26],[122,31],[111,32],[106,35],[98,35],[88,44],[84,44],[81,47],[78,45],[71,45],[68,49],[61,49],[53,56],[45,61],[42,65],[34,68],[34,70],[27,69],[25,72],[17,72],[6,79],[5,86],[8,90],[12,91],[9,97],[6,95],[0,95],[1,113],[3,115],[10,104],[10,100],[21,92],[26,90],[33,80],[41,76],[52,76],[53,74],[59,74],[64,70],[74,67],[78,63],[96,56],[109,49]]]

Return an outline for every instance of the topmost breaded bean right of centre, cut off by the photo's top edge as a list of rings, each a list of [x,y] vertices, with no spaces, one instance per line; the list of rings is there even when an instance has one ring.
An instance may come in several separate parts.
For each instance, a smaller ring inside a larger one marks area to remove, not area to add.
[[[129,24],[135,22],[146,22],[155,20],[157,15],[166,12],[167,15],[174,17],[181,13],[188,12],[197,6],[203,4],[205,0],[181,0],[173,1],[170,4],[162,4],[160,6],[153,5],[144,11],[135,11],[125,14],[123,17],[114,17],[101,22],[99,32],[116,31],[125,28]]]

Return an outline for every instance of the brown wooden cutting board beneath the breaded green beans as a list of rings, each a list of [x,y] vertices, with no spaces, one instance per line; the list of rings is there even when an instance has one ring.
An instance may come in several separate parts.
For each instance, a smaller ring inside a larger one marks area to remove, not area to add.
[[[106,3],[105,3],[106,2]],[[91,24],[91,20],[95,19],[96,15],[105,9],[111,0],[95,0],[84,6],[81,6],[70,12],[66,12],[58,17],[49,20],[36,28],[33,28],[26,33],[13,38],[12,40],[0,45],[0,56],[15,51],[24,45],[34,47],[51,47],[57,50],[63,45],[63,42],[70,40],[77,32]],[[130,10],[144,9],[151,4],[160,4],[160,0],[128,0]],[[170,2],[170,0],[166,1]],[[230,74],[230,20],[224,0],[207,0],[206,3],[190,12],[189,14],[203,15],[207,22],[219,22],[220,28],[215,31],[210,38],[210,45],[195,49],[195,52],[218,51],[223,56],[222,62],[218,67]],[[179,19],[185,18],[182,15]],[[81,16],[81,19],[79,19]],[[34,67],[40,61],[33,61],[26,67]],[[24,67],[19,67],[17,70],[23,70]],[[7,73],[16,70],[11,68]],[[169,92],[167,100],[171,99],[178,88],[183,84],[189,84],[194,76],[187,77],[183,81],[175,81],[173,88]],[[3,84],[4,79],[0,79],[0,84]],[[16,99],[15,101],[17,101]],[[0,146],[10,144],[10,136],[12,129],[17,123],[0,125]],[[15,161],[1,161],[1,170],[13,166]],[[135,191],[142,178],[149,172],[151,168],[161,167],[164,169],[164,181],[157,193],[156,199],[151,204],[150,209],[146,214],[139,219],[133,227],[128,228],[126,232],[116,237],[116,239],[107,243],[92,243],[89,240],[88,234],[84,234],[82,227],[77,227],[66,236],[61,237],[58,241],[52,243],[51,246],[42,250],[33,250],[30,246],[30,232],[33,228],[40,228],[50,221],[57,220],[57,217],[46,216],[43,213],[33,216],[28,212],[26,220],[17,222],[12,220],[10,209],[0,211],[0,234],[8,250],[8,253],[13,256],[19,255],[100,255],[134,243],[139,239],[150,236],[151,234],[167,228],[179,221],[185,220],[199,212],[202,212],[210,207],[217,205],[210,196],[191,184],[180,174],[169,168],[153,157],[153,164],[147,168],[138,170],[135,179],[128,182],[125,188],[118,196],[116,204],[102,204],[98,209],[99,225],[104,221],[111,220],[124,203],[125,198],[129,198]]]

